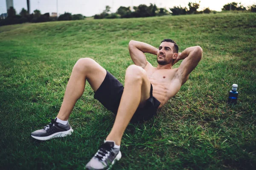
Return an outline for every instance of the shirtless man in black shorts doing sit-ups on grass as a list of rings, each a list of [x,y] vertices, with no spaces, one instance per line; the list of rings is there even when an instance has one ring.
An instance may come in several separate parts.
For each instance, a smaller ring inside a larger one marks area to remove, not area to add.
[[[94,98],[115,113],[116,119],[104,144],[86,168],[106,170],[119,160],[121,139],[128,123],[148,120],[154,116],[158,108],[177,94],[202,57],[202,48],[199,46],[178,53],[178,46],[171,39],[163,40],[158,49],[131,40],[129,52],[135,65],[130,65],[126,70],[125,87],[93,59],[79,59],[73,68],[57,117],[44,129],[32,132],[31,136],[38,140],[48,140],[70,135],[73,129],[67,119],[83,94],[87,80],[95,91]],[[144,53],[157,55],[157,67],[146,60]],[[183,61],[180,66],[172,68],[181,59]]]

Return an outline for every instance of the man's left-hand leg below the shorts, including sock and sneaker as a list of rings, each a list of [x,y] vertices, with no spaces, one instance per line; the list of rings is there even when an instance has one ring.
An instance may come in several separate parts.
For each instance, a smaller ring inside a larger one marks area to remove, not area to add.
[[[55,137],[71,135],[73,129],[67,119],[73,110],[76,101],[82,96],[87,80],[94,91],[102,84],[107,71],[97,62],[90,58],[79,59],[73,68],[67,84],[64,99],[57,118],[45,126],[44,129],[36,130],[31,136],[38,140],[49,140]]]

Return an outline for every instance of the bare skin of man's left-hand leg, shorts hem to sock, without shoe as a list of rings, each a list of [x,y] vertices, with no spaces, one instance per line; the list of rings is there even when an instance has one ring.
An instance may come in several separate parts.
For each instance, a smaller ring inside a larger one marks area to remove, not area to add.
[[[79,59],[74,65],[72,74],[67,83],[58,119],[67,120],[72,112],[76,101],[84,93],[85,81],[87,80],[93,91],[97,91],[102,84],[107,71],[97,62],[90,58]]]

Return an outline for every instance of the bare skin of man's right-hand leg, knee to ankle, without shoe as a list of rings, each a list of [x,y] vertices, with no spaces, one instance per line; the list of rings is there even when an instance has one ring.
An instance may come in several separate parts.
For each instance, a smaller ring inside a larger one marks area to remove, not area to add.
[[[121,144],[122,135],[138,106],[150,97],[150,88],[146,71],[137,65],[130,65],[125,73],[125,87],[116,119],[106,140]]]

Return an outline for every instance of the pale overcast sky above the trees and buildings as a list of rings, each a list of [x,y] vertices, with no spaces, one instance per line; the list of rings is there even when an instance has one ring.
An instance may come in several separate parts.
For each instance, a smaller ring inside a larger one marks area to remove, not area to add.
[[[111,6],[112,12],[116,12],[120,6],[128,7],[153,3],[159,8],[171,8],[179,5],[184,7],[190,1],[195,2],[195,0],[30,0],[30,13],[35,9],[39,9],[42,14],[56,12],[57,1],[58,14],[64,14],[66,11],[72,14],[83,14],[87,17],[101,13],[107,5]],[[256,0],[201,0],[200,9],[209,7],[211,10],[221,11],[225,4],[234,1],[241,2],[244,6],[256,4]],[[26,0],[13,0],[13,5],[17,13],[20,13],[22,8],[27,9]],[[6,0],[0,0],[0,14],[6,12]]]

